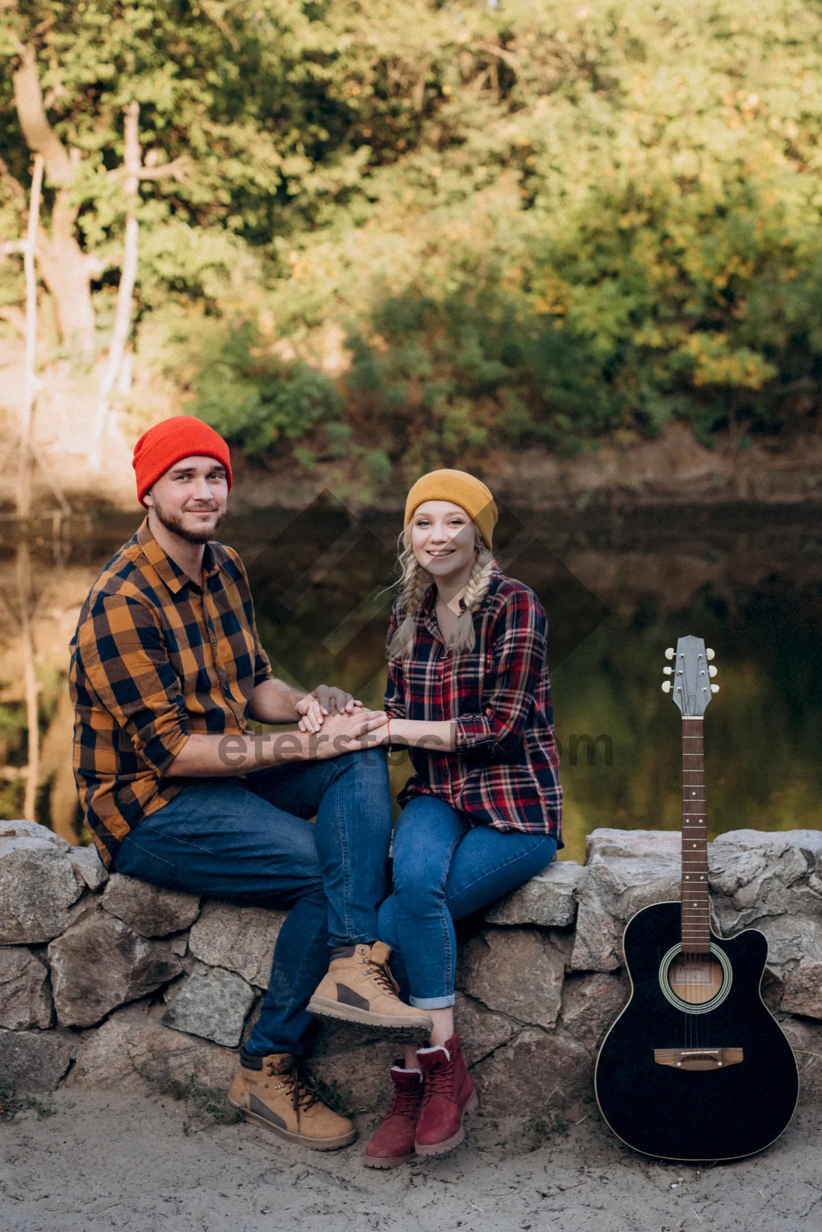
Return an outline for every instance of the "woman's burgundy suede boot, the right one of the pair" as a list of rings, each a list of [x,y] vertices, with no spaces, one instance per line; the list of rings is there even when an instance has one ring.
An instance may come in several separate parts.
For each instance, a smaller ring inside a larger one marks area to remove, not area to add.
[[[423,1068],[425,1094],[414,1151],[417,1154],[444,1154],[465,1138],[465,1115],[473,1112],[479,1100],[456,1031],[445,1046],[419,1048],[417,1060]]]

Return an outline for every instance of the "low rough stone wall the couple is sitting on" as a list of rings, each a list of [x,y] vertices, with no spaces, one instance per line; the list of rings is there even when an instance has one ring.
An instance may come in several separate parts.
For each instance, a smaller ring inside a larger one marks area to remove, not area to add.
[[[720,931],[759,928],[763,992],[822,1094],[822,833],[736,830],[709,848]],[[542,1114],[589,1088],[627,993],[640,908],[679,897],[679,835],[594,830],[463,940],[457,1023],[483,1108]],[[283,914],[106,875],[96,853],[0,822],[0,1087],[223,1088],[269,978]],[[313,1068],[351,1109],[388,1094],[396,1046],[322,1025]]]

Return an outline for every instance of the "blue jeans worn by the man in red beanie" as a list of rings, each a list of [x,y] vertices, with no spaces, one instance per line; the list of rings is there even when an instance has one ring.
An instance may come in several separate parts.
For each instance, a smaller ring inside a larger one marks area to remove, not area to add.
[[[312,824],[311,817],[317,814]],[[377,939],[388,892],[382,749],[190,782],[123,840],[115,867],[192,894],[290,907],[246,1051],[304,1052],[329,945]]]

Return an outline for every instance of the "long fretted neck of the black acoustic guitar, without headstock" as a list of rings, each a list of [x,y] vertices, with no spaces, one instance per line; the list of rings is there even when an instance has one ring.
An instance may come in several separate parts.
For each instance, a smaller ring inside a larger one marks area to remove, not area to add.
[[[683,950],[709,954],[707,825],[702,719],[683,718]]]

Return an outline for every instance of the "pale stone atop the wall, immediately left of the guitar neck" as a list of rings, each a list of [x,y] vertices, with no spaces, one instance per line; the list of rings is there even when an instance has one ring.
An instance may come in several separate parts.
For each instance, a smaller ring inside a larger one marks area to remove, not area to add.
[[[616,971],[622,962],[625,925],[643,907],[679,899],[682,865],[673,856],[646,855],[637,860],[594,854],[587,871],[571,967]]]

